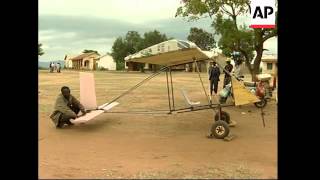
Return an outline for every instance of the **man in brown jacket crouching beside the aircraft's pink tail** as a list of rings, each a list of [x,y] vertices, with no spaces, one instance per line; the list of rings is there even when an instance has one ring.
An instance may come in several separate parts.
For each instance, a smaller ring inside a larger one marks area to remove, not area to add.
[[[53,123],[57,128],[62,128],[65,124],[71,126],[70,119],[79,117],[77,114],[82,112],[82,115],[86,114],[83,105],[70,94],[70,89],[67,86],[61,88],[61,94],[58,95],[54,111],[50,115]]]

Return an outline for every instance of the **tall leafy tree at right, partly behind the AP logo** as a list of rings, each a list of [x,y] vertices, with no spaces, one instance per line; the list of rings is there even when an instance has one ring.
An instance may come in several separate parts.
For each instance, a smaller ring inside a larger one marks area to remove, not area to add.
[[[240,52],[252,79],[255,80],[256,74],[259,73],[263,51],[266,50],[263,44],[266,40],[277,36],[277,28],[248,29],[245,25],[238,26],[237,18],[250,10],[249,0],[183,0],[182,3],[183,5],[177,9],[176,16],[189,17],[189,20],[208,16],[212,18],[216,34],[221,35],[218,46],[228,56],[230,52]],[[276,12],[276,26],[277,14]],[[253,51],[256,52],[256,57],[252,67]]]

